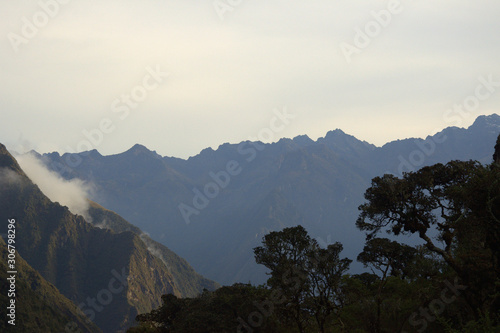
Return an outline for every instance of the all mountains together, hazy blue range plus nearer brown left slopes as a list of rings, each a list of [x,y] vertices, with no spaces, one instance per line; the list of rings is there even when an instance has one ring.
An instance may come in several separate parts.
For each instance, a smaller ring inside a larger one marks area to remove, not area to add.
[[[263,283],[253,247],[298,224],[322,246],[342,242],[343,255],[354,259],[364,244],[357,207],[373,177],[455,159],[490,163],[498,133],[493,114],[382,147],[337,129],[316,141],[226,143],[189,159],[139,144],[110,156],[32,152],[60,177],[92,184],[85,216],[51,201],[0,144],[0,219],[17,221],[17,328],[119,332],[157,308],[163,294],[193,297],[217,289],[212,280]],[[1,238],[0,254],[5,280]]]

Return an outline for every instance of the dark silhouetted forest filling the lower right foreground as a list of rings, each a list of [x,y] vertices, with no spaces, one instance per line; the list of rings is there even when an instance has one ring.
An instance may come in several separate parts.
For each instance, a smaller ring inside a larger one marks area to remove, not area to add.
[[[365,273],[348,274],[341,243],[322,248],[302,226],[285,228],[254,248],[265,285],[164,295],[128,332],[500,332],[500,136],[490,165],[386,174],[365,199]]]

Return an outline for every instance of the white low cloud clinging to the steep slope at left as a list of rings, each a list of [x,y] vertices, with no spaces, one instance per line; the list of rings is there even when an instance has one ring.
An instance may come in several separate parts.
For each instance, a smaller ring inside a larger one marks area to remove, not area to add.
[[[19,155],[16,159],[33,183],[52,201],[67,206],[73,214],[82,215],[88,221],[92,186],[81,179],[66,180],[47,169],[40,159],[32,154]]]

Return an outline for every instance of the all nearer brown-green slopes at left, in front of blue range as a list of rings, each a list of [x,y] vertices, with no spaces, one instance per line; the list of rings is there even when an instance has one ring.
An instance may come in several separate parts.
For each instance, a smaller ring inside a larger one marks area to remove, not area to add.
[[[88,219],[107,230],[50,201],[1,144],[0,185],[0,219],[16,220],[16,300],[19,321],[31,325],[19,324],[26,332],[123,331],[163,294],[192,297],[218,287],[116,213],[90,203]],[[5,259],[3,240],[0,246]]]

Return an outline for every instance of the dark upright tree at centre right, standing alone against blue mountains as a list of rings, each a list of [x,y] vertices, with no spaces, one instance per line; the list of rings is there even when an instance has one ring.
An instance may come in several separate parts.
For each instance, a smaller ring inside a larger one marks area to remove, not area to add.
[[[342,245],[320,248],[302,226],[285,228],[264,236],[254,249],[255,260],[270,269],[268,285],[287,299],[282,313],[288,314],[299,332],[304,332],[312,313],[320,332],[329,316],[341,307],[340,283],[351,263],[340,259]]]

